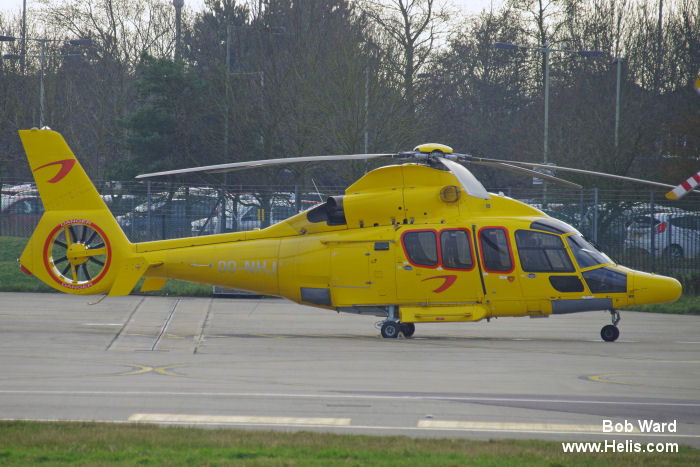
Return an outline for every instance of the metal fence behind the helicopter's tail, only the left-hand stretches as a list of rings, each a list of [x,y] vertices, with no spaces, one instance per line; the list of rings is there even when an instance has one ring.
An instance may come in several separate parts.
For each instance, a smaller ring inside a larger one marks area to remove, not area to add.
[[[103,182],[98,191],[132,242],[264,228],[344,187]],[[29,237],[43,206],[33,183],[3,183],[0,236]]]

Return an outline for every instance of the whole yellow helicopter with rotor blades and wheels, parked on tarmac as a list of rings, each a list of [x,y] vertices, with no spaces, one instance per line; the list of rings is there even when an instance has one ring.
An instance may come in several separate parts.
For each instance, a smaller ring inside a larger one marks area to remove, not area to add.
[[[141,291],[158,290],[173,278],[380,316],[385,338],[410,337],[415,323],[609,310],[612,324],[601,330],[605,341],[619,336],[619,308],[671,302],[681,294],[676,279],[615,264],[570,225],[488,193],[460,162],[580,188],[523,167],[548,167],[541,164],[477,158],[427,144],[403,153],[146,174],[139,177],[298,161],[403,160],[263,230],[131,243],[59,133],[19,133],[45,207],[21,269],[66,293],[126,295],[141,278]]]

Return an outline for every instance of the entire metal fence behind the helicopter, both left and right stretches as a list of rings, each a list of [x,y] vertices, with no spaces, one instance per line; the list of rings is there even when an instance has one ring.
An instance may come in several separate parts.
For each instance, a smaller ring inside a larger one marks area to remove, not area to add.
[[[344,187],[195,186],[104,182],[98,186],[132,242],[264,228]],[[614,261],[667,274],[700,272],[700,204],[669,202],[663,192],[503,190],[577,228]],[[31,183],[3,183],[0,235],[28,237],[43,208]]]

